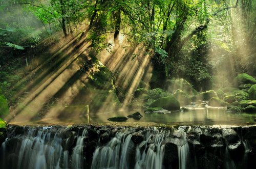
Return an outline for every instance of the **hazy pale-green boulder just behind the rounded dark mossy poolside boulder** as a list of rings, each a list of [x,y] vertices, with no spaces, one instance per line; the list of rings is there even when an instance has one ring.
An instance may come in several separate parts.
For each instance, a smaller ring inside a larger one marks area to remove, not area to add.
[[[184,91],[188,95],[197,95],[198,92],[190,85],[188,81],[183,78],[180,79],[167,79],[165,81],[164,89],[170,93],[177,91],[178,89]]]

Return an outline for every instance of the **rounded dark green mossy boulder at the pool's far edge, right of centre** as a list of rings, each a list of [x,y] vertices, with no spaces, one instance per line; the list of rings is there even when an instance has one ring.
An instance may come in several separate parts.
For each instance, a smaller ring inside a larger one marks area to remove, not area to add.
[[[180,110],[180,103],[174,96],[159,98],[150,107],[162,107],[166,110]]]

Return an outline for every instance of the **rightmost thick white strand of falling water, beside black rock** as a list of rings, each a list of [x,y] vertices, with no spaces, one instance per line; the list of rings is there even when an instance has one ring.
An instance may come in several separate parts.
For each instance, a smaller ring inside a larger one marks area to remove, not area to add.
[[[187,143],[186,132],[182,127],[179,127],[178,136],[180,137],[180,145],[178,146],[179,169],[186,169],[189,147]]]

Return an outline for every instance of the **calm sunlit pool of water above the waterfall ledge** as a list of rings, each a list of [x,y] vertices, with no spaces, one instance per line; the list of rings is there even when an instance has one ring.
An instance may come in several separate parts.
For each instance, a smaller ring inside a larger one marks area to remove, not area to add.
[[[246,113],[227,112],[225,107],[186,107],[187,112],[172,111],[170,114],[144,114],[140,120],[128,119],[126,122],[136,123],[155,123],[163,125],[255,125],[256,115]],[[88,111],[89,112],[89,111]],[[69,114],[65,118],[49,118],[44,121],[37,121],[33,124],[88,124],[88,123],[110,123],[108,118],[115,116],[128,116],[135,111],[120,110],[115,112],[101,112],[95,115],[93,112],[85,113],[79,117]],[[63,114],[65,114],[63,112]],[[62,114],[62,115],[63,115]],[[76,112],[73,112],[75,115]],[[117,123],[118,124],[118,123]]]

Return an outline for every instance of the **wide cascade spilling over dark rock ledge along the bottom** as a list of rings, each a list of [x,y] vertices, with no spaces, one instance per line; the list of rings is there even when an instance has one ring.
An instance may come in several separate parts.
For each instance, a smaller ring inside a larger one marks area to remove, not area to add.
[[[242,169],[255,165],[251,131],[243,140],[233,129],[209,127],[10,127],[7,135],[0,149],[2,169]]]

